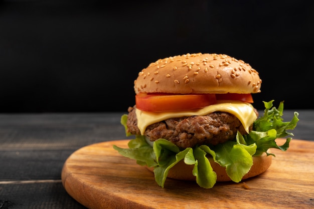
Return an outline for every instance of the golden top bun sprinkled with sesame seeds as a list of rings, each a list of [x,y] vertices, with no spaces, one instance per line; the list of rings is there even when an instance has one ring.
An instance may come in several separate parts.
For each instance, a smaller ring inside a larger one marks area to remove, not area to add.
[[[186,54],[160,59],[139,72],[134,90],[145,93],[259,93],[258,72],[223,54]]]

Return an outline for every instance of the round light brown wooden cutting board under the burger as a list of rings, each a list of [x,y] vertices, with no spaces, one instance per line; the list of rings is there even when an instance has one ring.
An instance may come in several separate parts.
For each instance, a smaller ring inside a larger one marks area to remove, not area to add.
[[[170,178],[158,186],[152,172],[112,148],[127,142],[75,151],[62,170],[66,191],[88,208],[314,208],[314,142],[292,139],[287,151],[271,150],[276,157],[264,173],[210,189]]]

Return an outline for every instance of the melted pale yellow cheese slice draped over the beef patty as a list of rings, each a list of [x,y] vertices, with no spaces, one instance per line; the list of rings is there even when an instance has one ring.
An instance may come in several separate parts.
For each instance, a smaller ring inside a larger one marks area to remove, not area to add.
[[[189,117],[193,115],[207,115],[212,112],[228,112],[235,115],[242,123],[246,132],[249,127],[257,119],[254,108],[250,103],[218,100],[216,104],[206,106],[201,109],[178,112],[146,112],[136,109],[137,126],[143,135],[147,126],[169,118]]]

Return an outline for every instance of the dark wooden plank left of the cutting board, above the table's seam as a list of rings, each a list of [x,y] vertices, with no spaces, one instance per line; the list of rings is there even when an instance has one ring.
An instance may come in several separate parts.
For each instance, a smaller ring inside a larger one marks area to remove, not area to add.
[[[125,138],[122,114],[0,114],[0,181],[61,179],[75,150]]]

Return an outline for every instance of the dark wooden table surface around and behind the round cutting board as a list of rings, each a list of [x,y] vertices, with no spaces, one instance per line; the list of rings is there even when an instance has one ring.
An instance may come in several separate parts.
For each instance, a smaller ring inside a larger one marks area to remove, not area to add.
[[[314,110],[293,112],[294,139],[314,140]],[[89,144],[127,139],[122,112],[0,114],[0,208],[85,208],[61,182],[65,160]]]

